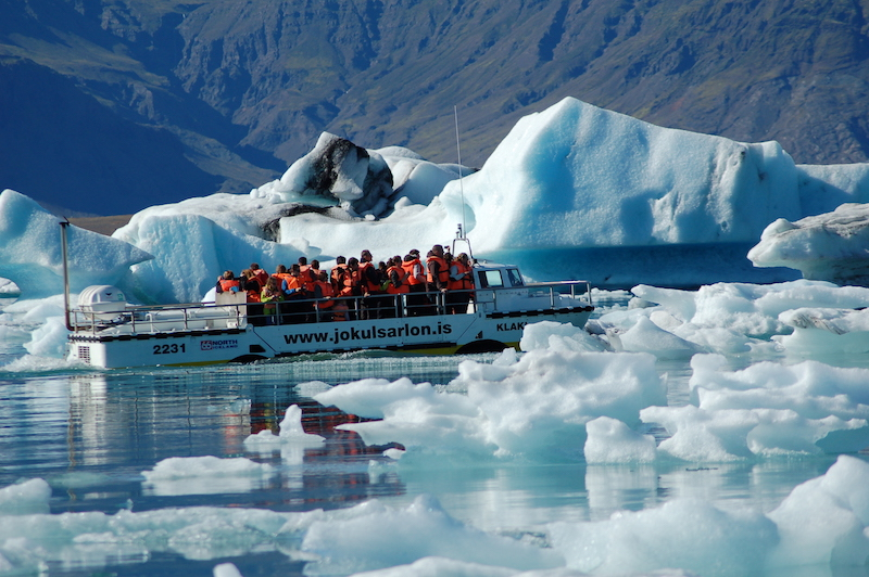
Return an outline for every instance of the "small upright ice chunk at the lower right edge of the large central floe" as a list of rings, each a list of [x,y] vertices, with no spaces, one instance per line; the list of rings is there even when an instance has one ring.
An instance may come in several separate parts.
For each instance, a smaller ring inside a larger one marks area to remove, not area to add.
[[[635,433],[618,419],[599,416],[585,431],[587,463],[650,463],[657,457],[655,437]]]

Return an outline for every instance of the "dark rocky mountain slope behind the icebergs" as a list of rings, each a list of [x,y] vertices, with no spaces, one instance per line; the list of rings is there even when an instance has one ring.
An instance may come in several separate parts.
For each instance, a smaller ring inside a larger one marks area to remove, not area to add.
[[[869,158],[869,0],[0,0],[0,189],[123,214],[247,192],[323,131],[481,165],[566,95]]]

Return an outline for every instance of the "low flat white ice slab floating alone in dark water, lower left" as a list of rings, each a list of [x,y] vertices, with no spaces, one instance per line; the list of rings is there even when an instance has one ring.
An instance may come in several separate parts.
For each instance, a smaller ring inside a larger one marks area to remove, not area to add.
[[[275,474],[268,463],[242,457],[171,457],[143,471],[144,489],[152,495],[216,495],[262,488]]]

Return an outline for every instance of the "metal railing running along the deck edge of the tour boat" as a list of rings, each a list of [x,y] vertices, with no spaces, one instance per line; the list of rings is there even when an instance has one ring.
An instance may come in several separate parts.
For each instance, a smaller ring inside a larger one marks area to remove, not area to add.
[[[579,293],[583,288],[582,294]],[[512,287],[488,287],[443,292],[289,297],[268,303],[126,305],[117,310],[72,309],[74,333],[116,335],[191,331],[242,330],[247,324],[284,325],[352,320],[427,317],[451,313],[507,310],[561,309],[562,296],[591,306],[591,287],[585,281],[528,283]],[[519,298],[517,300],[517,297]],[[519,308],[516,308],[519,307]]]

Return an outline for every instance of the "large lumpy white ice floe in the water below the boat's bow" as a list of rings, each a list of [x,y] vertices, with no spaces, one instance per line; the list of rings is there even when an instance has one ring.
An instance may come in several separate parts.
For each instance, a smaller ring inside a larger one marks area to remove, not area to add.
[[[655,359],[643,354],[532,350],[503,363],[466,360],[450,389],[366,380],[317,395],[317,401],[382,421],[343,424],[369,445],[456,456],[581,452],[585,423],[606,415],[637,423],[640,410],[666,405]],[[364,411],[364,412],[361,412]],[[566,439],[569,439],[566,441]]]

